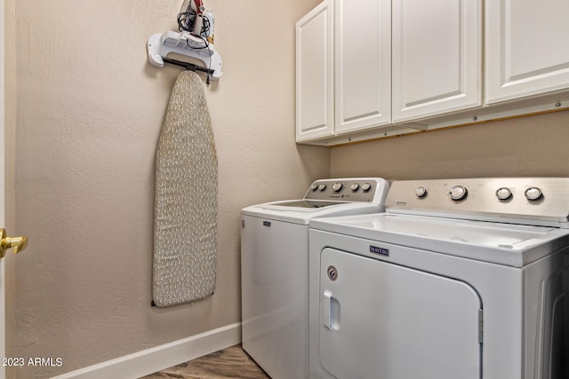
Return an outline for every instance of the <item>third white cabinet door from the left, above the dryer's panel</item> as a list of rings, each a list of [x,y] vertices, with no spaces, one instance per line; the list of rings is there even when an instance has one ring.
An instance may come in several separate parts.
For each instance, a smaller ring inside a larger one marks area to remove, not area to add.
[[[481,9],[481,0],[393,1],[394,122],[482,105]]]

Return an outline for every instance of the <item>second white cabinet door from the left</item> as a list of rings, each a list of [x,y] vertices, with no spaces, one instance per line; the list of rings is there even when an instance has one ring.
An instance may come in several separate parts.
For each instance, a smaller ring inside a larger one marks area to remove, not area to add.
[[[335,0],[336,133],[391,122],[391,1]]]

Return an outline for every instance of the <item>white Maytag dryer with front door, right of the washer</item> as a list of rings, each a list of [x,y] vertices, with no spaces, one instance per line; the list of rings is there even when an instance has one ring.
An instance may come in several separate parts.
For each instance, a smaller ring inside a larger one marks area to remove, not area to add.
[[[569,378],[569,179],[396,181],[313,220],[310,378]]]

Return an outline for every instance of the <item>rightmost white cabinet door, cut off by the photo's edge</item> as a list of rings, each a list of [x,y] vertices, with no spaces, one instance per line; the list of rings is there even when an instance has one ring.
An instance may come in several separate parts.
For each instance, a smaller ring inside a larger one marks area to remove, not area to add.
[[[569,2],[485,5],[486,103],[569,88]]]

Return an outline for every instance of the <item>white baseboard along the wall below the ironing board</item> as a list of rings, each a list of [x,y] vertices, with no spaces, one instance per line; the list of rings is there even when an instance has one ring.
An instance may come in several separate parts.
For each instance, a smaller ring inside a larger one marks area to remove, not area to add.
[[[241,323],[80,368],[52,379],[137,379],[241,343]]]

